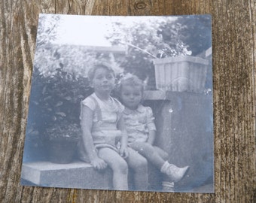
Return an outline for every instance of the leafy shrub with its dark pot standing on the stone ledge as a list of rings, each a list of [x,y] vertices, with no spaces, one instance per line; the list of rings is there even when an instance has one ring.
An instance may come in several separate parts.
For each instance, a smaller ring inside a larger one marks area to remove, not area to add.
[[[62,67],[51,75],[44,92],[44,109],[50,122],[44,131],[44,141],[51,162],[68,163],[77,150],[81,134],[80,102],[90,94],[87,78],[76,77]]]

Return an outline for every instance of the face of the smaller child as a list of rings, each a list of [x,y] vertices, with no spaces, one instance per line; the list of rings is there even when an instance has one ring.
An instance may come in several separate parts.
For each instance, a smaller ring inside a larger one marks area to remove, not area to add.
[[[142,101],[142,87],[141,86],[122,86],[121,99],[123,105],[127,108],[135,110]]]

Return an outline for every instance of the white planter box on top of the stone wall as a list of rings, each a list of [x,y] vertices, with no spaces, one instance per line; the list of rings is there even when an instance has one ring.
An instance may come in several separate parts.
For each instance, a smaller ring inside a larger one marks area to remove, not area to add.
[[[203,92],[209,61],[195,56],[154,59],[157,89]]]

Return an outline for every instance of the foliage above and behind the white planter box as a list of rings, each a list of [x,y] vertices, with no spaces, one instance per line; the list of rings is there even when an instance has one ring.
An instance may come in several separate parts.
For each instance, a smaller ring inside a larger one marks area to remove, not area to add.
[[[210,16],[151,17],[141,22],[114,22],[114,32],[107,38],[126,47],[122,65],[126,72],[146,80],[154,88],[152,59],[197,56],[211,46]]]

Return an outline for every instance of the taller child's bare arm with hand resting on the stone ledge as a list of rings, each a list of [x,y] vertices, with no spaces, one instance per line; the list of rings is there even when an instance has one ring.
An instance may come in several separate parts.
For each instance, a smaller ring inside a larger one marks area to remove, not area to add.
[[[82,141],[84,148],[89,156],[90,163],[93,165],[93,168],[104,169],[107,167],[107,163],[103,159],[100,159],[97,155],[91,134],[91,129],[93,126],[93,111],[86,106],[83,106],[81,111],[81,129],[83,133]]]

